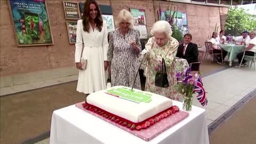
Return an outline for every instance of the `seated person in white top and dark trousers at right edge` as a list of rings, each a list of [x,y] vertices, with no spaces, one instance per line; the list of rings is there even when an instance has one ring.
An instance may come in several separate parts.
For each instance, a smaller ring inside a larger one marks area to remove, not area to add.
[[[237,59],[238,59],[238,62],[239,62],[239,65],[242,61],[242,58],[243,58],[243,55],[249,55],[249,56],[253,56],[256,52],[256,37],[255,37],[255,31],[251,31],[250,33],[250,42],[249,42],[249,45],[245,47],[245,54],[244,52],[240,52],[237,54]],[[239,65],[237,67],[239,67]],[[243,59],[242,61],[242,67],[245,67],[245,66],[248,66],[247,65],[247,61],[245,59]]]

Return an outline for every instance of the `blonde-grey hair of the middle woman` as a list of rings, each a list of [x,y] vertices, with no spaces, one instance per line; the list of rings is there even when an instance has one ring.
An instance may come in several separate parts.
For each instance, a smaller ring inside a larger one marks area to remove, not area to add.
[[[119,14],[117,15],[117,18],[116,18],[116,21],[115,21],[116,26],[119,27],[120,22],[122,22],[123,20],[130,23],[130,26],[129,26],[130,28],[133,27],[132,14],[129,11],[125,10],[125,9],[120,11]]]

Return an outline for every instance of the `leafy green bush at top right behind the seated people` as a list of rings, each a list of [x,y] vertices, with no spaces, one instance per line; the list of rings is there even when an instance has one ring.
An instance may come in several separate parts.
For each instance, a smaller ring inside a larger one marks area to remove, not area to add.
[[[249,14],[243,8],[230,7],[225,25],[225,33],[233,36],[241,35],[243,30],[255,30],[255,15]]]

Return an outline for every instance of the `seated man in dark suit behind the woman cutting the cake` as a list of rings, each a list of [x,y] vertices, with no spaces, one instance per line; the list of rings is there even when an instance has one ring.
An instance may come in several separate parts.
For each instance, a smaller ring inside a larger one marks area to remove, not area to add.
[[[186,34],[184,36],[184,43],[180,44],[178,47],[177,55],[176,57],[186,59],[188,63],[191,62],[198,62],[198,48],[197,45],[194,43],[191,43],[192,35]],[[191,70],[197,71],[199,67],[198,63],[194,63],[191,66]]]

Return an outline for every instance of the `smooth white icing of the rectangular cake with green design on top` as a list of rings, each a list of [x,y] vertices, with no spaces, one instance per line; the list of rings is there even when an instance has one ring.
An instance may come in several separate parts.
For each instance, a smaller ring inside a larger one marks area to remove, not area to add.
[[[113,93],[119,93],[122,98],[113,96]],[[94,92],[88,95],[86,102],[133,123],[142,122],[172,107],[169,98],[137,89],[131,91],[130,87],[125,86]]]

